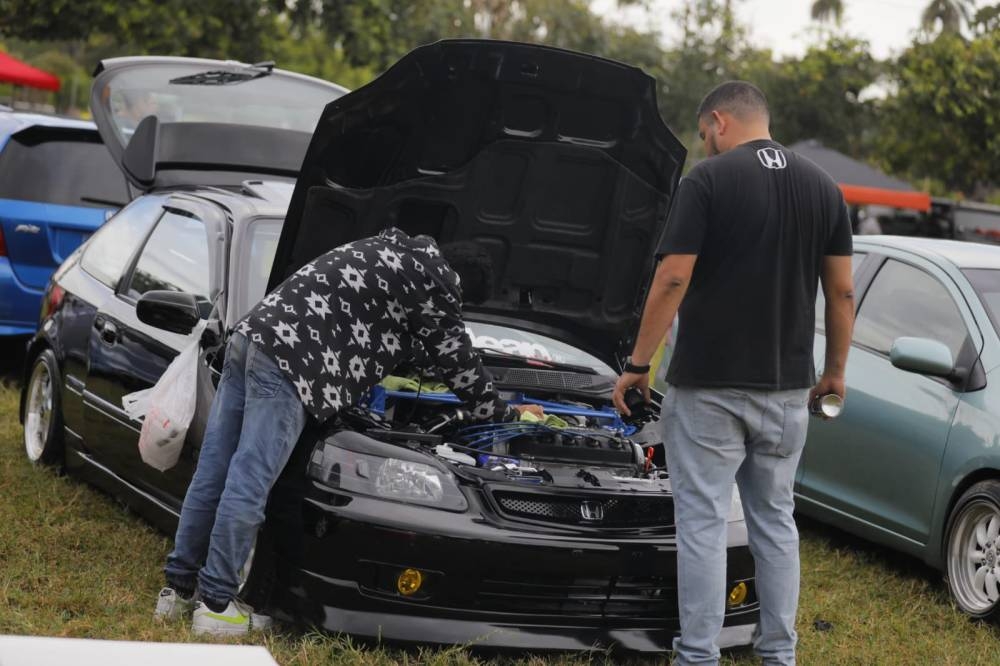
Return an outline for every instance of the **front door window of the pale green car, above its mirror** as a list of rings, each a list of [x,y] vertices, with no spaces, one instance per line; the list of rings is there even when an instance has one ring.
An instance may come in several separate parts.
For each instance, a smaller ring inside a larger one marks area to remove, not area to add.
[[[961,311],[944,285],[893,259],[875,276],[854,324],[854,343],[888,354],[902,336],[944,343],[958,358],[968,337]]]

